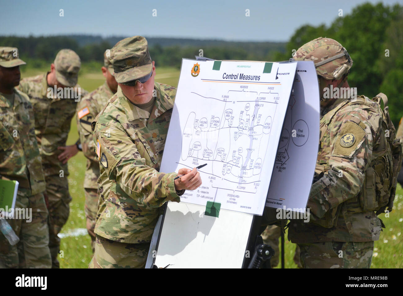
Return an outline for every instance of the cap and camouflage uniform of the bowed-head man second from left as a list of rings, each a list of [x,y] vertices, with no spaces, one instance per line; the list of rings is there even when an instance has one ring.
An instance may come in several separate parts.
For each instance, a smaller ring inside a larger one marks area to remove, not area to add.
[[[76,94],[84,96],[85,90],[77,84],[77,75],[81,62],[77,54],[70,49],[62,49],[55,59],[56,78],[64,86],[75,88]],[[58,160],[62,152],[58,146],[65,146],[70,131],[71,119],[75,114],[77,101],[73,92],[70,98],[63,98],[54,91],[48,91],[48,73],[21,80],[19,89],[26,93],[32,103],[35,115],[35,134],[42,157],[42,167],[46,180],[46,194],[49,201],[50,216],[50,252],[53,267],[59,267],[57,255],[59,253],[60,238],[57,234],[69,217],[69,185],[67,164]],[[80,93],[78,92],[80,90]]]

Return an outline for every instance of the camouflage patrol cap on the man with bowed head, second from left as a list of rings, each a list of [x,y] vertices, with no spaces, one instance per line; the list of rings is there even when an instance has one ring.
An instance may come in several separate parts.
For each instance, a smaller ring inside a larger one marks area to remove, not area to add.
[[[56,79],[64,86],[75,86],[81,67],[80,57],[71,49],[60,50],[54,59]]]

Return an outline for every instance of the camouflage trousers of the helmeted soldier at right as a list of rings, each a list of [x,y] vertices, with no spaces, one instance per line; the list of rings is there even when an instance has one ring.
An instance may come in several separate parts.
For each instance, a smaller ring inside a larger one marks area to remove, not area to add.
[[[374,242],[298,244],[304,268],[370,268]]]

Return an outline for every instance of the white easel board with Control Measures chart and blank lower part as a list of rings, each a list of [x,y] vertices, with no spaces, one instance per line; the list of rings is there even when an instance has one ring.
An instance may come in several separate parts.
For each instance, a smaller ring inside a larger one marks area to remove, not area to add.
[[[157,267],[239,268],[253,255],[253,214],[264,209],[297,63],[215,63],[182,62],[161,171],[208,165],[199,189],[168,203]]]

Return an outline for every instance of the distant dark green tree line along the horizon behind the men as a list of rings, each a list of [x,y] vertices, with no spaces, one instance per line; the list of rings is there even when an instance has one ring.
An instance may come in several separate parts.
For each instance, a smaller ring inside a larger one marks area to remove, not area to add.
[[[87,38],[85,38],[87,37]],[[125,37],[93,37],[85,35],[17,37],[0,36],[0,44],[17,47],[22,58],[52,62],[62,48],[73,49],[81,61],[103,61],[105,49]],[[89,43],[88,40],[92,42]],[[150,55],[158,66],[180,68],[182,58],[203,55],[216,60],[272,60],[274,54],[285,52],[281,42],[231,42],[219,40],[148,38]],[[173,43],[174,40],[177,43]],[[114,42],[116,41],[116,42]],[[169,42],[168,42],[169,41]],[[114,43],[112,43],[114,42]]]

